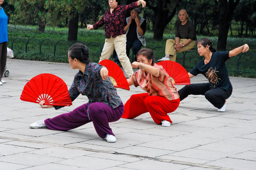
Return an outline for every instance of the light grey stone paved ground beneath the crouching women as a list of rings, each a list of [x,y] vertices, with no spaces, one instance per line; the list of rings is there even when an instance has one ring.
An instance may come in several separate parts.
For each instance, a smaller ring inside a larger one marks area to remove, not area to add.
[[[79,96],[58,111],[20,101],[26,82],[40,73],[56,74],[70,87],[77,71],[68,64],[9,59],[7,67],[10,76],[0,87],[0,169],[256,169],[255,79],[230,77],[234,91],[225,113],[204,96],[189,96],[169,114],[171,127],[154,124],[149,113],[120,119],[111,123],[117,142],[107,143],[93,124],[68,132],[28,127],[88,101]],[[118,89],[124,103],[140,92]]]

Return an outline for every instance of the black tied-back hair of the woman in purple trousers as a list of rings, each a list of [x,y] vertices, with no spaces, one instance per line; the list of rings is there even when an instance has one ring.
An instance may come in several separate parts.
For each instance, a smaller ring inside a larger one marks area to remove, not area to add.
[[[82,43],[76,43],[70,46],[68,48],[68,52],[73,60],[77,59],[84,64],[88,64],[90,62],[88,47]]]

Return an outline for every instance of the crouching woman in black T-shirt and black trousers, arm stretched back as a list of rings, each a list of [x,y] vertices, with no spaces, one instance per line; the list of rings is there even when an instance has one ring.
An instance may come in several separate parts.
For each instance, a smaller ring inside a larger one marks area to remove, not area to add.
[[[229,52],[217,52],[208,38],[200,38],[196,44],[199,55],[205,58],[200,60],[188,75],[192,78],[199,73],[204,74],[209,83],[186,85],[179,90],[180,101],[190,94],[204,95],[213,106],[218,108],[217,111],[226,111],[226,100],[232,94],[232,85],[225,62],[241,52],[248,52],[249,46],[244,44]]]

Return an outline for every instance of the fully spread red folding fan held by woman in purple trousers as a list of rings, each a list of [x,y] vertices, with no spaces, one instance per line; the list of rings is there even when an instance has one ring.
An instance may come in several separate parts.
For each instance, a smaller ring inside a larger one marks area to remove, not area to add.
[[[66,83],[53,74],[39,74],[26,83],[20,100],[32,103],[45,101],[45,105],[71,106]]]

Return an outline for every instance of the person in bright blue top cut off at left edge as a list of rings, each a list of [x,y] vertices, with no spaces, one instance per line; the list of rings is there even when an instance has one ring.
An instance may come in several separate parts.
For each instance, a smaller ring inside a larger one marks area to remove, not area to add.
[[[8,32],[7,32],[7,24],[8,17],[4,12],[4,9],[1,5],[4,3],[4,0],[0,0],[0,85],[6,83],[6,81],[2,80],[4,69],[6,66],[6,53],[7,53],[7,42],[8,42]]]

